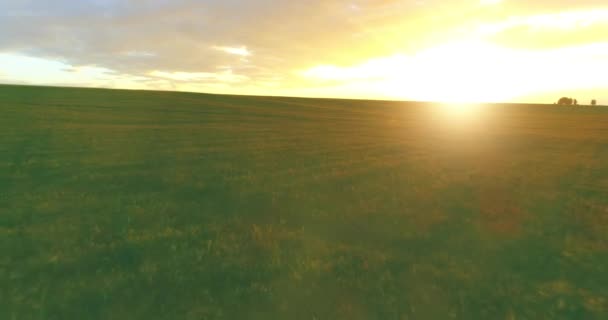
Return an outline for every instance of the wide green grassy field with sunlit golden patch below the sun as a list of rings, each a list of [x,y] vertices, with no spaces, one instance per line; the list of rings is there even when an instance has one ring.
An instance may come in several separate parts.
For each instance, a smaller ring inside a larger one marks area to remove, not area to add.
[[[607,319],[608,108],[0,86],[0,319]]]

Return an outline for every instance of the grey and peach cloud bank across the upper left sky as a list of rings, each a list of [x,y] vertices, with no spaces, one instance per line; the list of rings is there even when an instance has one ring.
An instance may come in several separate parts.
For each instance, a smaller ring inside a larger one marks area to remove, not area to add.
[[[356,2],[357,15],[348,9],[353,1],[346,0],[4,0],[0,51],[135,74],[212,72],[219,65],[247,63],[278,74],[312,60],[355,61],[380,53],[368,46],[369,34],[361,35],[411,6]],[[248,59],[235,61],[234,55]]]

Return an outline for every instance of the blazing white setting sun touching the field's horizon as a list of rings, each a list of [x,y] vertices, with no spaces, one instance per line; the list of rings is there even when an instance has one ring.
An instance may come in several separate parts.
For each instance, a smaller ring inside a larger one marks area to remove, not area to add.
[[[512,72],[506,72],[512,66],[505,65],[505,55],[488,43],[449,43],[412,57],[402,67],[404,72],[387,77],[382,85],[387,95],[417,101],[457,105],[509,101],[516,92],[510,85]]]

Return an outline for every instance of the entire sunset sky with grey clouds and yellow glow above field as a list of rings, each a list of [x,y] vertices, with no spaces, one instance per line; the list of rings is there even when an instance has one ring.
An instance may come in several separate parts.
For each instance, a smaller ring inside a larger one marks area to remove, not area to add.
[[[606,0],[2,0],[0,83],[608,104]]]

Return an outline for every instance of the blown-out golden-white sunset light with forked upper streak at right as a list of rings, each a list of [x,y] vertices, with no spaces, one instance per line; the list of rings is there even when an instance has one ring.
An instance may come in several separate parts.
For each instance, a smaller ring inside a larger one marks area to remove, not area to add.
[[[499,1],[484,2],[490,3]],[[597,24],[608,27],[608,10],[512,17],[479,24],[460,39],[413,53],[356,65],[317,65],[300,75],[327,85],[347,83],[342,88],[356,83],[353,90],[367,87],[380,97],[451,103],[513,101],[539,93],[600,88],[608,73],[608,42],[520,48],[490,37],[518,28],[538,33]]]

